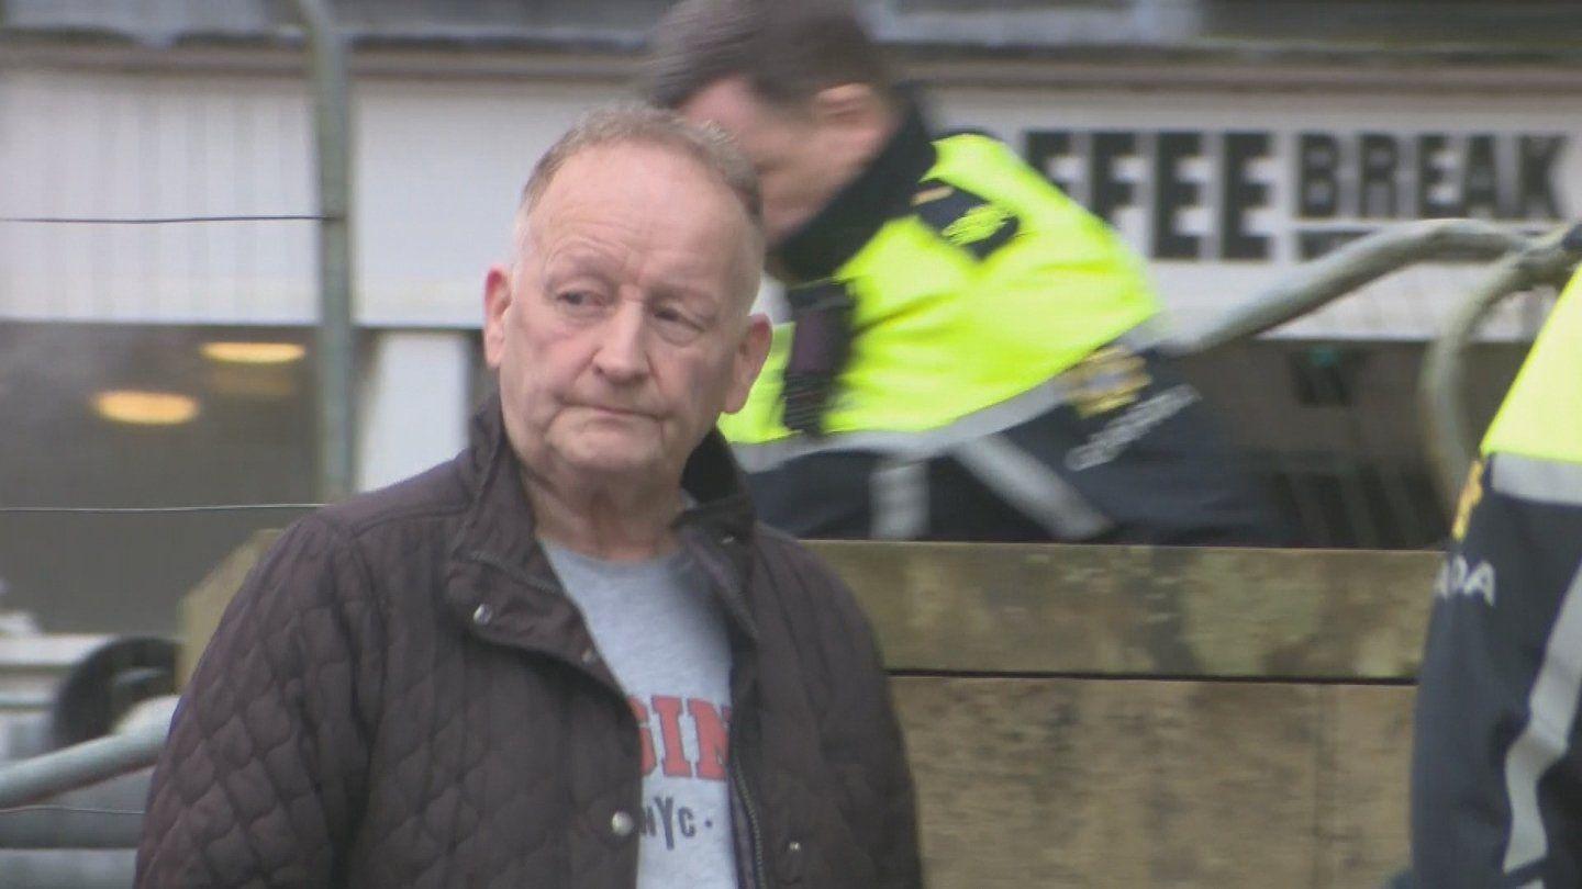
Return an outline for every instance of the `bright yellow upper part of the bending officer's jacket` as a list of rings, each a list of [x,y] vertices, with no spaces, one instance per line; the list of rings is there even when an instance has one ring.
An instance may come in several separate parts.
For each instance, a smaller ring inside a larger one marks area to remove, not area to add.
[[[921,125],[903,127],[810,228],[821,231],[794,236],[788,264],[850,297],[850,353],[816,449],[997,432],[1025,419],[997,407],[1158,312],[1120,237],[981,134],[929,141]],[[793,334],[794,324],[777,327],[747,407],[720,421],[739,454],[810,438],[785,422]]]

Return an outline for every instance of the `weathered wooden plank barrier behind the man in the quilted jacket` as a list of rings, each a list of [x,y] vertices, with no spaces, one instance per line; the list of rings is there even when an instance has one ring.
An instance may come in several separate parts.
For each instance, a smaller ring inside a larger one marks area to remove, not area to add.
[[[271,541],[195,590],[188,650]],[[1125,677],[1408,677],[1432,554],[818,549],[892,668],[968,674],[894,680],[935,889],[1340,889],[1406,864],[1411,687]]]

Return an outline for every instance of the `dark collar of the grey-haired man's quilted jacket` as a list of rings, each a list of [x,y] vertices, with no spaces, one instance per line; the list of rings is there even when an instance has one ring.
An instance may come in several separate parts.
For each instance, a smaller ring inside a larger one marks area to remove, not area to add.
[[[500,615],[500,626],[486,634],[509,634],[513,642],[579,658],[592,641],[533,533],[533,509],[505,433],[498,394],[473,416],[468,438],[467,451],[456,459],[470,503],[451,543],[445,590],[449,607],[476,623],[479,607],[487,606]],[[755,516],[742,471],[718,430],[688,457],[682,487],[694,505],[677,517],[677,536],[713,579],[732,625],[753,637],[745,588]],[[519,614],[508,620],[506,609]]]

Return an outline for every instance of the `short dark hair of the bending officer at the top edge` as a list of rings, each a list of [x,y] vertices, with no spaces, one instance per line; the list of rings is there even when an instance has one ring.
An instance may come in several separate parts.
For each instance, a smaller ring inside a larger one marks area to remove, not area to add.
[[[736,76],[778,106],[840,84],[892,96],[883,54],[845,0],[682,0],[653,32],[642,92],[679,108]]]

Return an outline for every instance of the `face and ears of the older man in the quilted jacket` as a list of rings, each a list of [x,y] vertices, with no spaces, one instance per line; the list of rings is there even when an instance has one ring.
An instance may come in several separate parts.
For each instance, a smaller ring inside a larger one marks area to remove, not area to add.
[[[528,471],[674,479],[769,348],[748,316],[761,248],[747,212],[694,160],[587,149],[554,176],[486,285],[484,353]]]

